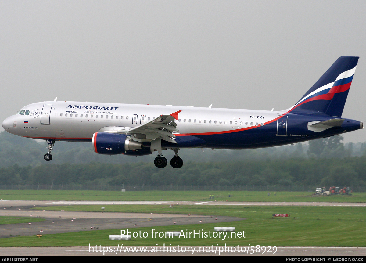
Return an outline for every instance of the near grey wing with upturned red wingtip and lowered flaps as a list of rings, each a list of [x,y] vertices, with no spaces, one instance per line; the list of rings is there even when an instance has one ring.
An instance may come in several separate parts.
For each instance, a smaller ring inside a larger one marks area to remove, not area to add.
[[[155,140],[156,138],[161,138],[162,140],[176,143],[176,141],[173,140],[173,138],[176,137],[173,132],[179,132],[179,130],[177,130],[177,124],[174,121],[178,119],[178,114],[181,111],[182,110],[174,112],[170,115],[160,115],[156,119],[153,119],[152,121],[138,127],[126,130],[111,130],[105,132],[123,133],[129,135],[143,134],[146,136],[146,140],[148,141]]]

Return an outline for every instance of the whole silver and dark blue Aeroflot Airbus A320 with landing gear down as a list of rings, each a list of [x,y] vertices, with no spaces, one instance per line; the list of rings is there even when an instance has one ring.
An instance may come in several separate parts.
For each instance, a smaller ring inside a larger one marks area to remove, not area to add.
[[[250,149],[293,144],[363,128],[341,118],[358,57],[342,56],[291,108],[283,111],[235,110],[160,105],[45,101],[23,107],[3,122],[12,134],[45,139],[46,161],[55,141],[92,142],[96,153],[149,155],[156,167],[167,159],[180,168],[183,148]]]

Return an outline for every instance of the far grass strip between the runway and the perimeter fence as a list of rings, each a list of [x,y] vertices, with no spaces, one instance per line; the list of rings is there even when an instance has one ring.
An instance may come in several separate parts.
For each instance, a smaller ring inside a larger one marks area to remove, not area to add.
[[[311,196],[309,192],[252,192],[252,191],[92,191],[92,190],[0,190],[3,200],[103,200],[103,201],[278,201],[278,202],[366,202],[366,193],[352,196]],[[232,197],[228,197],[232,195]]]

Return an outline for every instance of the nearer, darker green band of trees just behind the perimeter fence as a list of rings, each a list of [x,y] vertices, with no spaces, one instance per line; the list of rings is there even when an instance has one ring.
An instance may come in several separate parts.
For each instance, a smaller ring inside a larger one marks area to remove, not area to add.
[[[0,184],[365,186],[366,156],[340,159],[189,161],[180,169],[152,163],[43,164],[0,168]]]

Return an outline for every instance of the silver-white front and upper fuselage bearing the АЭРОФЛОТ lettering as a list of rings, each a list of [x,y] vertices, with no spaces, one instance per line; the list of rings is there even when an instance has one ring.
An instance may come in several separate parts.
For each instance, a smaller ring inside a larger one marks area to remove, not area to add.
[[[50,110],[42,112],[44,105]],[[283,112],[201,108],[163,105],[117,103],[90,103],[76,101],[45,101],[22,108],[24,114],[15,114],[3,122],[10,133],[30,138],[85,141],[104,127],[137,127],[157,118],[179,112],[176,120],[180,134],[233,131],[277,119]],[[43,121],[41,116],[43,114]],[[49,118],[49,124],[45,119]],[[263,125],[263,124],[262,124]],[[121,129],[121,128],[119,128]],[[104,131],[103,129],[101,131]]]

